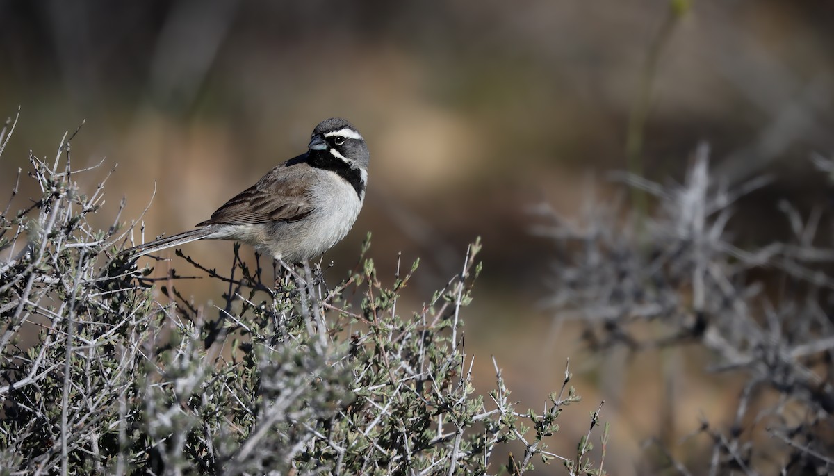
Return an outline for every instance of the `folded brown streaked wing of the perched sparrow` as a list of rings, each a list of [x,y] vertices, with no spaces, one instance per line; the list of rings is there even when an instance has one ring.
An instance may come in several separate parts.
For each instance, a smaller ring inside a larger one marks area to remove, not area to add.
[[[293,222],[314,210],[309,190],[315,179],[299,156],[269,171],[258,183],[226,202],[198,227],[214,224]]]

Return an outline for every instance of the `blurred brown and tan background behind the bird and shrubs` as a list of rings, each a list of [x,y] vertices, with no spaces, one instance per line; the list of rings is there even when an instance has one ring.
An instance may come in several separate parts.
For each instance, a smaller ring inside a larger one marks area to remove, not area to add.
[[[585,399],[564,413],[553,448],[570,454],[605,399],[606,468],[646,473],[656,463],[641,451],[646,438],[676,444],[701,413],[721,421],[737,389],[702,372],[708,356],[583,351],[573,326],[555,326],[537,306],[552,250],[528,233],[525,207],[544,200],[570,215],[590,183],[616,188],[605,172],[626,168],[626,130],[657,44],[646,175],[681,178],[699,141],[711,144],[714,172],[727,183],[774,173],[771,187],[740,204],[742,238],[779,233],[769,220],[778,199],[824,203],[826,183],[809,157],[834,151],[834,3],[690,7],[672,20],[667,0],[3,0],[0,115],[19,106],[21,118],[0,191],[26,169],[29,149],[53,158],[63,132],[86,119],[73,161],[106,161],[78,180],[92,190],[118,163],[102,226],[123,197],[122,219],[138,218],[156,187],[143,218],[152,239],[208,218],[304,152],[320,120],[349,118],[371,150],[369,192],[349,237],[326,256],[335,263],[330,281],[353,266],[371,232],[380,276],[393,280],[399,252],[404,263],[421,258],[406,297],[416,305],[482,236],[484,273],[464,315],[479,390],[491,388],[495,354],[514,395],[541,408],[570,356]],[[26,186],[21,195],[35,196]],[[229,243],[184,251],[211,267],[231,263]],[[223,289],[195,282],[189,292],[217,300]],[[670,378],[670,368],[685,378]],[[685,461],[699,455],[697,441],[676,447]]]

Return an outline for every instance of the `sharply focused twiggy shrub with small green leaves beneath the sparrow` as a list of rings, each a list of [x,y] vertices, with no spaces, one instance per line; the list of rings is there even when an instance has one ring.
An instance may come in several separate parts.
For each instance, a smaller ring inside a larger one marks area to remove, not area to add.
[[[540,459],[602,473],[599,410],[575,455],[546,451],[579,400],[570,373],[540,413],[515,408],[497,363],[495,389],[475,391],[462,309],[480,243],[414,312],[398,299],[417,263],[385,286],[360,258],[328,288],[309,265],[265,280],[237,248],[229,273],[178,253],[228,285],[209,318],[177,273],[117,255],[118,218],[90,223],[104,183],[78,185],[91,172],[73,170],[66,136],[29,164],[18,180],[41,196],[13,211],[16,187],[0,215],[0,473],[520,474]]]

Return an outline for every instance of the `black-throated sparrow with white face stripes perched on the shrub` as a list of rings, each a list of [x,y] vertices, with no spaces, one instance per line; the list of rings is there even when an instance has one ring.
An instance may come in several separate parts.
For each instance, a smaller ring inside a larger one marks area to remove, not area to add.
[[[226,202],[199,228],[121,254],[138,257],[198,239],[228,239],[286,263],[319,256],[353,227],[364,202],[370,155],[359,131],[342,118],[319,123],[307,148]]]

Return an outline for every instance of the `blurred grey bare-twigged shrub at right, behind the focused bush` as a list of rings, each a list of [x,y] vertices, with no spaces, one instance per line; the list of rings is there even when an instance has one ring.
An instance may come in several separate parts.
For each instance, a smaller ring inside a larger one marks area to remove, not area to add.
[[[787,228],[792,239],[775,241],[773,233],[744,248],[727,231],[733,205],[768,179],[727,188],[710,177],[707,156],[706,146],[698,148],[682,184],[625,177],[655,198],[647,215],[625,201],[586,203],[579,220],[539,208],[536,233],[558,250],[547,305],[558,318],[582,323],[596,353],[706,350],[707,373],[742,383],[730,421],[704,415],[700,428],[690,428],[703,453],[677,461],[675,448],[657,441],[653,471],[829,474],[834,249],[821,227],[827,207],[803,217],[782,202],[771,227]],[[834,161],[815,162],[834,171]]]

